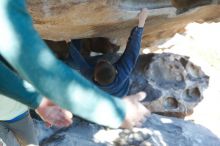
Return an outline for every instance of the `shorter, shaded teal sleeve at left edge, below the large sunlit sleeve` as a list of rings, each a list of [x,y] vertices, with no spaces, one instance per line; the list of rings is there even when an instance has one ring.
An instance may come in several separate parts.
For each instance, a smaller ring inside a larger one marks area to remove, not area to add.
[[[42,100],[37,92],[28,90],[25,82],[0,62],[0,93],[36,109]],[[24,100],[25,99],[25,100]]]

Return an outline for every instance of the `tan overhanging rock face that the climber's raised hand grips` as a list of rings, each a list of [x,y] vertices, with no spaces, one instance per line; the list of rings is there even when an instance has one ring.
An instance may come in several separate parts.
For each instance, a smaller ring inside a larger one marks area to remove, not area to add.
[[[172,1],[172,3],[171,3]],[[44,39],[106,37],[123,46],[137,25],[140,8],[150,9],[143,47],[153,47],[191,22],[219,21],[220,0],[27,0],[36,29]],[[176,15],[178,9],[207,5]]]

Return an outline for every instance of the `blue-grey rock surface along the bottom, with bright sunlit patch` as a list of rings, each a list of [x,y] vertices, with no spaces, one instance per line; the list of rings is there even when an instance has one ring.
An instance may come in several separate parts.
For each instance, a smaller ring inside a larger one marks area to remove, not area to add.
[[[217,146],[218,139],[208,129],[176,118],[152,115],[142,128],[112,130],[75,118],[67,129],[45,129],[36,122],[42,146]],[[47,135],[41,135],[47,133]]]

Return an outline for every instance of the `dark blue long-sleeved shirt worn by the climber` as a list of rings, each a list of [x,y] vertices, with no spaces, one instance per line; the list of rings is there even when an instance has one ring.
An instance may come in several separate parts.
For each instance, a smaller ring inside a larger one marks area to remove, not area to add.
[[[100,89],[118,97],[123,97],[128,94],[130,84],[129,77],[139,56],[142,33],[143,28],[139,27],[135,27],[131,31],[125,52],[122,54],[120,59],[113,64],[117,70],[117,76],[115,80],[111,84],[104,86],[96,84]],[[69,45],[69,56],[66,62],[74,69],[79,70],[83,76],[93,81],[94,66],[88,64],[86,60],[81,56],[78,51],[79,47],[79,41],[71,41]]]

